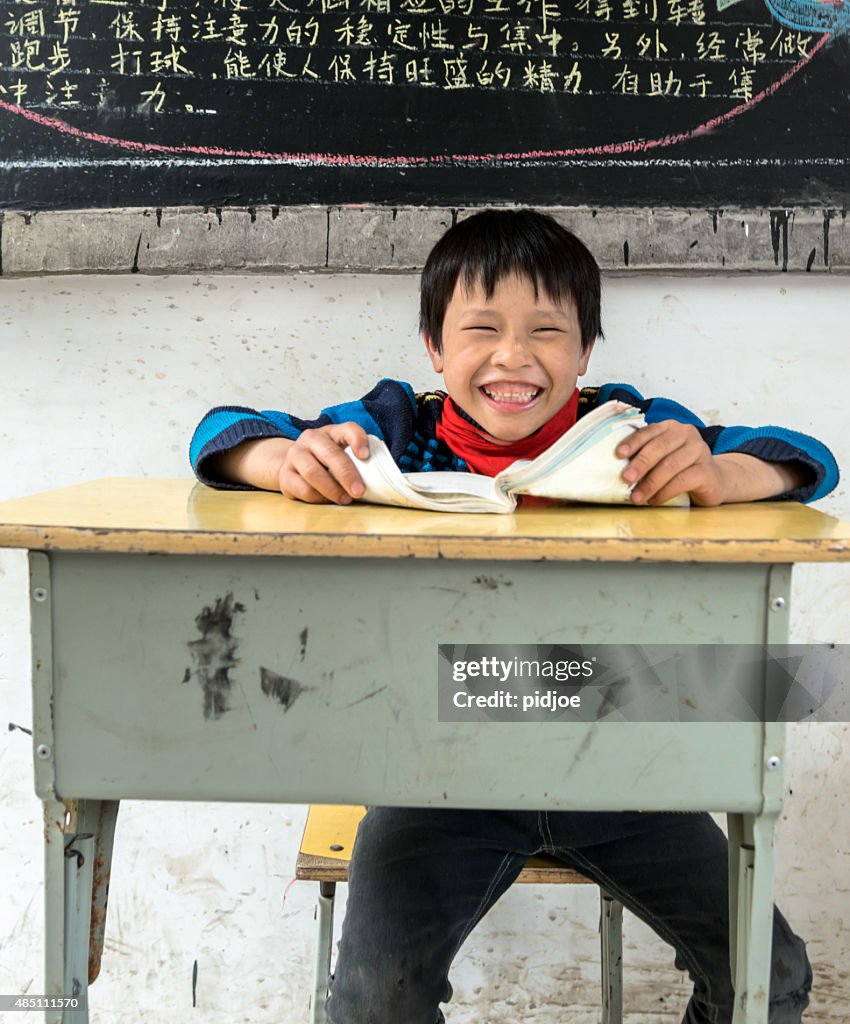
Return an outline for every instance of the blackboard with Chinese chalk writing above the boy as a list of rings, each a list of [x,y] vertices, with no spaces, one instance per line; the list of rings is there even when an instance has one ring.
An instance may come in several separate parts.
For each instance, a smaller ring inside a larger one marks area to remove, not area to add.
[[[844,208],[850,2],[0,0],[0,206]]]

